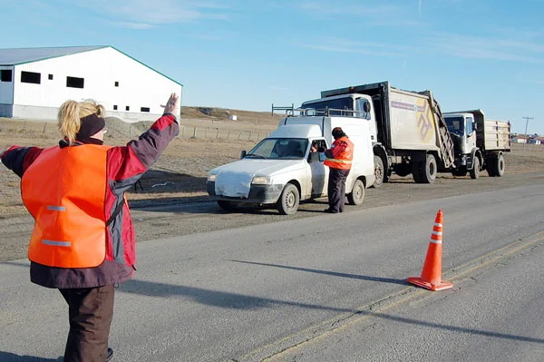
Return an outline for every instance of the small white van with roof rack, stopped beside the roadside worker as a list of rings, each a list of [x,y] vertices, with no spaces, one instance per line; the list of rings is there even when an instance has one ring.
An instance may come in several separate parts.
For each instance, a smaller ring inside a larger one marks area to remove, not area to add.
[[[219,208],[232,211],[264,205],[289,215],[296,212],[300,201],[327,196],[329,168],[324,164],[324,151],[334,141],[335,127],[342,127],[354,143],[352,168],[345,181],[347,201],[352,205],[363,202],[365,189],[374,183],[368,122],[351,114],[296,111],[293,107],[286,112],[276,131],[249,152],[241,152],[240,160],[209,171],[207,191]]]

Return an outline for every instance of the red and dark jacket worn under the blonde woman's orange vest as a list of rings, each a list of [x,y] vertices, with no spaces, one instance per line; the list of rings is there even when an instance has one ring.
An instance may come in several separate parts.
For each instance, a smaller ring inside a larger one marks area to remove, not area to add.
[[[124,192],[149,170],[179,132],[176,117],[167,113],[141,134],[138,140],[108,150],[104,165],[107,170],[104,220],[110,220],[112,215],[113,218],[106,231],[106,258],[98,267],[79,269],[53,268],[31,262],[32,282],[47,288],[73,289],[100,287],[131,278],[135,269],[135,233],[129,206],[124,201]],[[86,142],[96,141],[90,139],[75,142],[72,146],[61,141],[56,147],[85,147]],[[23,177],[24,171],[40,157],[42,151],[37,147],[14,146],[2,155],[2,162],[19,177]],[[119,212],[115,212],[118,205]]]

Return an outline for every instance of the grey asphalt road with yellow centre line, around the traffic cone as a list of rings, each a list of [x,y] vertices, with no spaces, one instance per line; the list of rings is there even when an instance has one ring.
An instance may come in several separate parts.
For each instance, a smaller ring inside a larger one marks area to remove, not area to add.
[[[543,186],[140,243],[116,296],[115,360],[540,361]],[[430,292],[405,279],[421,273],[439,209],[454,288]],[[24,259],[0,275],[0,360],[56,360],[60,293],[32,285]]]

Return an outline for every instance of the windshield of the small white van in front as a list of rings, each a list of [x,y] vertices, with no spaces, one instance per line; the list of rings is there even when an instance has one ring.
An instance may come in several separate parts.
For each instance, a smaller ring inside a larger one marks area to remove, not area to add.
[[[247,159],[298,160],[304,158],[308,140],[303,138],[266,138],[258,142]]]

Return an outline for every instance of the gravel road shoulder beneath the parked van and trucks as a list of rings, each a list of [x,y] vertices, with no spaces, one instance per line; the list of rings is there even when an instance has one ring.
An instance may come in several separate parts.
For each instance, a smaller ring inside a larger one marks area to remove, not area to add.
[[[481,176],[478,180],[452,178],[441,174],[432,184],[414,183],[411,177],[393,180],[381,189],[368,189],[361,206],[346,205],[347,211],[368,210],[444,197],[507,190],[539,184],[543,172],[506,174],[503,177]],[[304,202],[294,215],[279,215],[274,209],[243,210],[227,213],[207,197],[130,201],[132,219],[139,243],[211,230],[226,230],[284,220],[322,215],[326,199]],[[0,261],[26,257],[34,220],[29,215],[0,219]]]

